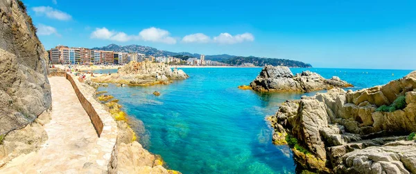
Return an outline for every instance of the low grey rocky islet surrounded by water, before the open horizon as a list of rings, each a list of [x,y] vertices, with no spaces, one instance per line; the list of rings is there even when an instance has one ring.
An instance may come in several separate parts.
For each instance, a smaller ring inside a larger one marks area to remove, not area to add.
[[[259,92],[299,91],[307,93],[333,87],[352,87],[352,84],[336,76],[324,79],[318,73],[309,70],[293,75],[286,66],[265,66],[256,79],[250,83],[250,87]]]

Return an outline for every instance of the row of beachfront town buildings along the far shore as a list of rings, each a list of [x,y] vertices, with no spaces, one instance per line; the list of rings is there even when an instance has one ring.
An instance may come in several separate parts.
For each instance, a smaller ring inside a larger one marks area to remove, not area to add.
[[[51,64],[123,65],[128,64],[130,61],[153,61],[169,65],[227,66],[227,64],[218,61],[206,60],[205,55],[200,55],[199,59],[196,57],[180,59],[173,56],[155,57],[153,55],[144,55],[139,52],[114,52],[68,46],[56,46],[47,52]]]

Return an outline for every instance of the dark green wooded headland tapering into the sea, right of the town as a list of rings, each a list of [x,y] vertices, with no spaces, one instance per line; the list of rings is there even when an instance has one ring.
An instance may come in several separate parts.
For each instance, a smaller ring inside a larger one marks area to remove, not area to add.
[[[289,67],[302,67],[310,68],[311,64],[305,64],[302,61],[293,61],[288,59],[271,59],[271,58],[261,58],[261,57],[233,57],[231,59],[225,59],[221,62],[225,64],[230,64],[232,66],[240,66],[244,63],[252,63],[254,66],[289,66]]]

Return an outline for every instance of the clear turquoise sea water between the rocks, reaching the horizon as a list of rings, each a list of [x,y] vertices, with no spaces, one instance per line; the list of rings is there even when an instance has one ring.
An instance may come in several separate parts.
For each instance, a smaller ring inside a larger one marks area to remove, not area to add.
[[[261,68],[182,68],[189,79],[170,85],[100,88],[120,99],[123,110],[144,122],[139,142],[182,173],[295,173],[287,146],[272,144],[265,120],[286,99],[314,93],[260,94],[240,90]],[[291,68],[333,75],[353,90],[386,84],[411,70]],[[107,70],[106,70],[107,71]],[[114,71],[115,72],[115,71]],[[394,74],[394,75],[393,75]],[[162,95],[155,96],[153,91]]]

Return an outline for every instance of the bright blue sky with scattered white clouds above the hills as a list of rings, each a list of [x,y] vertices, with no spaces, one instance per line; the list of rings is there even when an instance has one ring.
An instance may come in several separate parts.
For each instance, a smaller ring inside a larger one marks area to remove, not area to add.
[[[416,69],[416,1],[23,1],[46,49],[139,44],[324,68]]]

